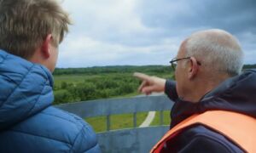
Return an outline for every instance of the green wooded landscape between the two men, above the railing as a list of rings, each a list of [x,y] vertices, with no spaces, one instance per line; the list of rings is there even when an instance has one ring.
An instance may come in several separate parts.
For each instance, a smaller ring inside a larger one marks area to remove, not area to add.
[[[54,105],[135,96],[139,94],[137,88],[140,84],[140,80],[132,76],[136,71],[173,78],[171,66],[166,65],[57,68],[54,72]]]

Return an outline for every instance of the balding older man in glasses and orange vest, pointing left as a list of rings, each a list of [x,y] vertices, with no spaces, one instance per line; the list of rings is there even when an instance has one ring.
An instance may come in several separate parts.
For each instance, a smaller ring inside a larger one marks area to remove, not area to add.
[[[222,30],[185,39],[171,64],[176,82],[135,73],[143,94],[175,101],[171,130],[151,152],[255,152],[256,73],[241,73],[243,53]]]

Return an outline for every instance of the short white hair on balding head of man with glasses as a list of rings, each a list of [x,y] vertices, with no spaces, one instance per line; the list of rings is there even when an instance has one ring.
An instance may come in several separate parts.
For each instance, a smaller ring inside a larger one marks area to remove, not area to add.
[[[218,29],[199,31],[185,42],[187,56],[194,56],[202,66],[214,72],[235,76],[241,72],[243,52],[236,37]]]

